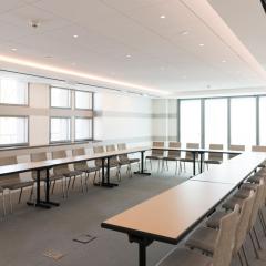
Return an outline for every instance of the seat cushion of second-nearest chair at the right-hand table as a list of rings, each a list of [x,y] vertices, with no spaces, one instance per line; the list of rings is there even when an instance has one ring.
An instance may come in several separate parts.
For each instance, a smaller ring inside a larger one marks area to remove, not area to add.
[[[188,237],[185,245],[213,254],[217,235],[218,231],[216,229],[200,227]]]

